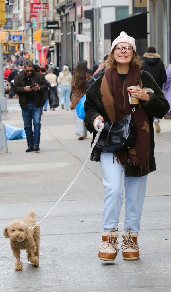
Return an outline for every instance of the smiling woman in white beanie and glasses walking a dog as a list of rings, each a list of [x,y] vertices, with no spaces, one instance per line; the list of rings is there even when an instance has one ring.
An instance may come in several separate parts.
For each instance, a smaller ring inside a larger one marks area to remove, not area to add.
[[[114,153],[100,152],[97,147],[91,154],[91,160],[101,162],[103,185],[105,188],[102,242],[100,260],[112,261],[117,256],[119,213],[123,203],[122,173],[125,185],[125,220],[121,233],[122,255],[125,260],[139,258],[137,244],[140,219],[144,203],[147,175],[156,170],[154,158],[153,117],[163,118],[169,104],[156,81],[145,71],[141,72],[140,58],[136,53],[135,40],[126,32],[121,32],[111,47],[105,62],[105,72],[90,86],[84,103],[85,126],[94,131],[96,119],[117,122],[132,113],[128,99],[128,86],[132,97],[139,99],[133,115],[133,124],[137,128],[135,148]],[[142,90],[152,88],[154,93]],[[93,138],[96,131],[93,132]]]

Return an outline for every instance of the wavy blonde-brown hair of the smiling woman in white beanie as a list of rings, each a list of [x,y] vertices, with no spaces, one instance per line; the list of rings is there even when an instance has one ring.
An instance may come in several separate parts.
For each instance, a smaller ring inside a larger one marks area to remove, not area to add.
[[[108,59],[103,63],[103,65],[107,69],[114,69],[117,71],[117,63],[114,60],[114,49],[110,52]],[[133,65],[138,65],[140,68],[142,67],[141,58],[135,51],[133,51],[133,58],[130,62],[130,67]]]

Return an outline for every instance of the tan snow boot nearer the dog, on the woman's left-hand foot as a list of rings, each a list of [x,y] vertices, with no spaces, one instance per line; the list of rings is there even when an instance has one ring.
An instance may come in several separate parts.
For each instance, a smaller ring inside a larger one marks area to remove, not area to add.
[[[100,244],[98,257],[100,260],[113,261],[115,260],[117,253],[119,251],[118,244],[118,236],[119,234],[117,227],[112,228],[110,232],[102,233],[102,242]]]

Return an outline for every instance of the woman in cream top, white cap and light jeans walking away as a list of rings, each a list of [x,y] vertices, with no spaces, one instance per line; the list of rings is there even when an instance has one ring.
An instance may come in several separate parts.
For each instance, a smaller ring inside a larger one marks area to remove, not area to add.
[[[69,67],[64,65],[61,74],[58,76],[58,83],[61,84],[61,107],[64,109],[64,104],[66,104],[66,110],[69,110],[70,105],[71,79],[72,75]]]

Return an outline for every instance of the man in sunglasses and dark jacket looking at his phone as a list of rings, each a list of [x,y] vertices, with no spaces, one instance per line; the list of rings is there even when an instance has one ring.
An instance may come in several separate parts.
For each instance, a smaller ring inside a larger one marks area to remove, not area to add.
[[[40,120],[48,87],[49,84],[44,75],[34,71],[33,62],[30,60],[24,62],[23,72],[14,78],[13,91],[19,95],[27,136],[28,149],[26,152],[38,152],[40,150]],[[32,120],[34,133],[32,131]]]

